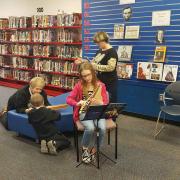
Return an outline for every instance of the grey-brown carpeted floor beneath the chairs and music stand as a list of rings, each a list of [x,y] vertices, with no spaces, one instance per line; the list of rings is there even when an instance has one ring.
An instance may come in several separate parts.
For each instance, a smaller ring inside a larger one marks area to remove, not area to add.
[[[16,137],[0,126],[0,180],[179,180],[180,127],[167,125],[158,140],[153,139],[155,122],[130,116],[118,121],[117,164],[104,162],[76,168],[75,149],[58,156],[44,155],[33,141]],[[70,139],[73,142],[72,136]],[[112,144],[114,139],[112,138]],[[73,143],[72,143],[73,144]],[[113,148],[103,151],[113,157]]]

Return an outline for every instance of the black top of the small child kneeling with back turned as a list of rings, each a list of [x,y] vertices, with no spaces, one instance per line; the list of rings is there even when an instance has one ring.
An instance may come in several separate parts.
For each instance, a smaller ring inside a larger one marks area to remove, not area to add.
[[[40,139],[51,139],[51,137],[58,133],[54,121],[59,120],[60,117],[59,112],[47,109],[46,107],[34,108],[28,113],[29,123],[32,124]]]

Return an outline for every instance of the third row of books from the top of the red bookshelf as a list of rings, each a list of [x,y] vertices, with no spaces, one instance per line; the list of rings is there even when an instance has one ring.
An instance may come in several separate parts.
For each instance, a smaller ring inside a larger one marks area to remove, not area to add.
[[[0,44],[0,54],[13,54],[22,56],[43,56],[76,58],[80,57],[81,48],[76,46],[47,46],[47,45],[25,45],[25,44]]]

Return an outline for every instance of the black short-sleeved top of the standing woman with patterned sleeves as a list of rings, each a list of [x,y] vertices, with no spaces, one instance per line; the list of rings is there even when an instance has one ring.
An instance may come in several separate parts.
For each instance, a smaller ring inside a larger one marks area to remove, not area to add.
[[[101,49],[97,51],[96,56],[100,56],[102,59],[99,61],[99,65],[107,65],[108,60],[111,58],[116,59],[116,64],[118,60],[117,52],[114,48],[110,48],[108,50],[102,51]],[[96,58],[96,57],[95,57]],[[112,84],[114,81],[117,81],[117,72],[116,68],[112,72],[97,72],[97,77],[101,80],[106,86],[108,84]]]

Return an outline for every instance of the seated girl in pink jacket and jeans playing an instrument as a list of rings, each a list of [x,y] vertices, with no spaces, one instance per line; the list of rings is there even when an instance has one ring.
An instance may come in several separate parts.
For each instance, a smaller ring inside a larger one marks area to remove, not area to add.
[[[76,125],[80,128],[85,128],[82,138],[82,161],[89,163],[91,161],[90,154],[96,152],[96,149],[93,148],[95,145],[95,138],[93,138],[93,135],[95,130],[94,123],[97,122],[94,122],[93,120],[82,121],[86,114],[86,107],[82,109],[82,106],[85,105],[85,102],[89,97],[91,97],[90,105],[107,104],[108,96],[104,83],[97,80],[95,70],[91,63],[82,63],[79,72],[80,80],[75,85],[66,101],[67,104],[74,107],[73,118]],[[98,127],[100,130],[99,145],[101,146],[106,131],[105,119],[100,119],[98,121]]]

